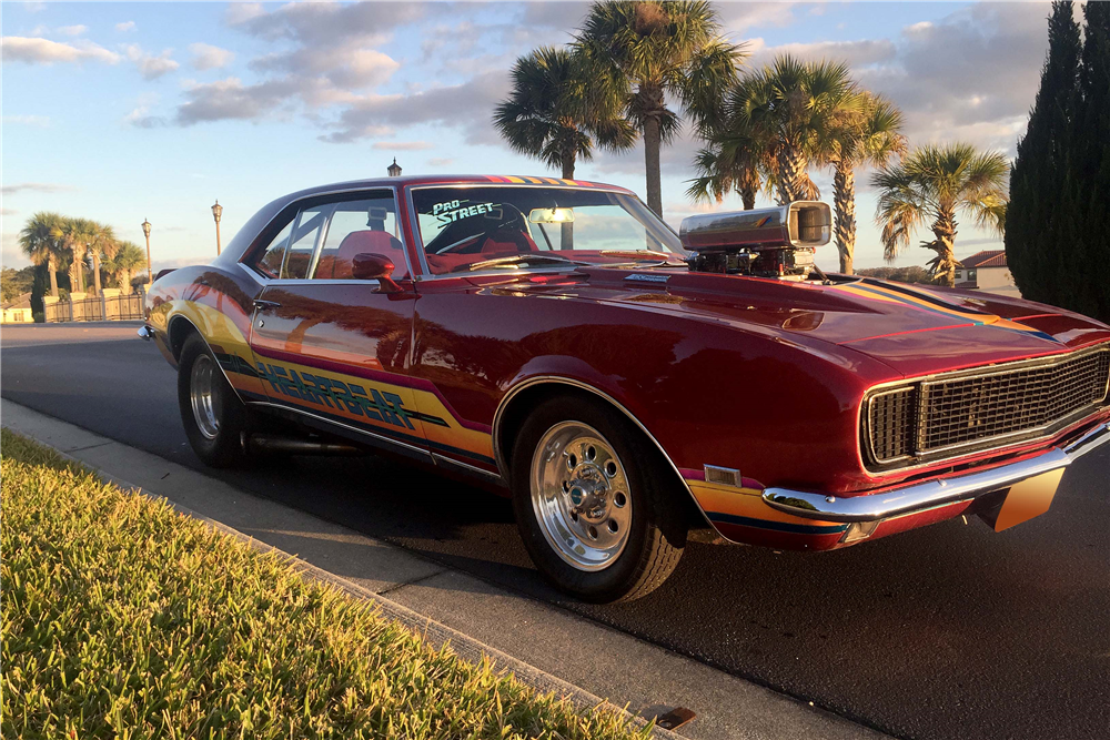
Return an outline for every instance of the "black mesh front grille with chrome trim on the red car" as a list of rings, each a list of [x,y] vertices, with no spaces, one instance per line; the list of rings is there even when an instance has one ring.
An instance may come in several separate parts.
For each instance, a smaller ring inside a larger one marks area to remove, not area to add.
[[[871,394],[872,466],[929,462],[1053,433],[1107,399],[1110,346],[947,373]]]

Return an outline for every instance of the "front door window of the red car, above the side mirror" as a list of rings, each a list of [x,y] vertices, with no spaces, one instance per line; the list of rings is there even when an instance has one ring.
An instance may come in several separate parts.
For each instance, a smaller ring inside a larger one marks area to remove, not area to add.
[[[393,194],[333,203],[331,221],[313,273],[315,280],[352,280],[356,254],[380,254],[393,262],[393,278],[408,276]]]

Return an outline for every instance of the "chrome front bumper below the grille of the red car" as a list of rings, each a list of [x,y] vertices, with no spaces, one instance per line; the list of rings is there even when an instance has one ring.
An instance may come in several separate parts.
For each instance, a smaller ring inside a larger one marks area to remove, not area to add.
[[[831,496],[787,488],[767,488],[763,499],[779,511],[823,521],[877,521],[905,514],[924,511],[945,504],[963,501],[1045,473],[1058,470],[1076,462],[1099,445],[1110,443],[1110,424],[1101,424],[1076,442],[1020,463],[1001,465],[989,470],[968,473],[952,478],[938,478],[878,494]]]

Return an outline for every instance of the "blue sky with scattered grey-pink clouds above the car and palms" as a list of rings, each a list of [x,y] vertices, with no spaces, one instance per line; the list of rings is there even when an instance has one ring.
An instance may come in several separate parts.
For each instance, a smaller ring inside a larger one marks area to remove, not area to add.
[[[717,3],[724,33],[758,69],[778,53],[850,63],[904,111],[910,145],[968,141],[1015,154],[1047,50],[1040,2]],[[154,270],[215,256],[262,205],[311,185],[405,174],[557,174],[515,153],[491,124],[508,70],[568,42],[583,2],[3,2],[0,241],[4,266],[37,211],[111,224]],[[685,197],[698,143],[663,151],[664,216]],[[598,153],[575,176],[644,196],[644,152]],[[831,174],[811,176],[831,203]],[[882,266],[876,197],[857,173],[856,267]],[[761,197],[759,206],[773,205]],[[924,265],[916,246],[896,265]],[[970,223],[957,256],[1001,243]],[[836,247],[818,264],[837,265]]]

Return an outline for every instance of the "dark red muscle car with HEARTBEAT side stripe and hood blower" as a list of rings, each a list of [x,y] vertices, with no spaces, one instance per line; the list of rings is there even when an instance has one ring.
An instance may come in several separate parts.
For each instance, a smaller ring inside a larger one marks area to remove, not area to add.
[[[632,599],[692,530],[829,550],[1046,511],[1110,440],[1110,327],[826,275],[828,206],[687,219],[551,178],[326,185],[162,274],[147,325],[214,466],[374,448],[512,496],[539,570]]]

